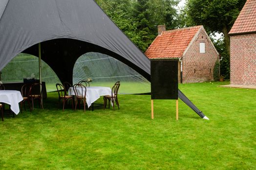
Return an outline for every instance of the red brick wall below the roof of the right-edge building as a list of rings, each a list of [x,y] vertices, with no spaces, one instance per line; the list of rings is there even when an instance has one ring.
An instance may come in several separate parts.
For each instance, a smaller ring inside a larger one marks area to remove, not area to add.
[[[256,85],[256,34],[230,36],[230,84]]]

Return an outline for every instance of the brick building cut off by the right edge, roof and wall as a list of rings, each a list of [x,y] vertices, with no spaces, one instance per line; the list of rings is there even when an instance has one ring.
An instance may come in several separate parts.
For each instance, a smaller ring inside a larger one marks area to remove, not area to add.
[[[230,35],[230,84],[256,85],[256,0],[247,0]]]

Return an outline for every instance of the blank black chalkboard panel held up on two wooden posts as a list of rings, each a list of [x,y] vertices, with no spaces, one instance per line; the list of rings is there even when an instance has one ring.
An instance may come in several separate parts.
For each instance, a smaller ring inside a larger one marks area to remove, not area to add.
[[[151,99],[178,99],[178,61],[151,60]]]

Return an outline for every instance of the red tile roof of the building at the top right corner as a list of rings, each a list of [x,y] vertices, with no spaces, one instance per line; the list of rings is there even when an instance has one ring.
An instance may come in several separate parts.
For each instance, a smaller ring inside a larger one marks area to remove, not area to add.
[[[256,32],[256,0],[247,0],[229,34]]]

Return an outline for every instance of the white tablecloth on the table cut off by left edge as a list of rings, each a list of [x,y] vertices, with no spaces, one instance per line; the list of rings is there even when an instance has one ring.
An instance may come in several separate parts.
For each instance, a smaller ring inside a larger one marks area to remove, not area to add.
[[[0,90],[0,102],[7,103],[11,110],[18,115],[20,112],[19,102],[23,100],[21,92],[17,90]]]

